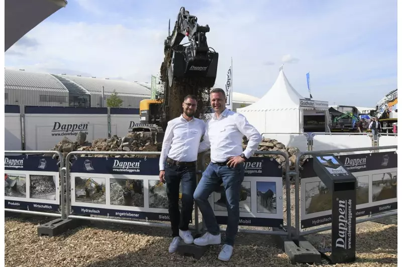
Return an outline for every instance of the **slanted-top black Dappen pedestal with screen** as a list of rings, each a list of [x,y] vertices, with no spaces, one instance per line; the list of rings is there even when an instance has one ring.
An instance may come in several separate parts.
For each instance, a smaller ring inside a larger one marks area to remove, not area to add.
[[[356,260],[357,179],[333,154],[314,155],[313,168],[332,192],[332,253],[330,260]]]

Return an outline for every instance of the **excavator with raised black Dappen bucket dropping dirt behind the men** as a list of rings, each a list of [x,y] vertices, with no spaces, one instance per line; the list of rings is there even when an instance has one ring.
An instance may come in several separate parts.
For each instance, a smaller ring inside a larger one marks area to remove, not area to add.
[[[157,125],[160,128],[157,140],[163,140],[167,122],[183,112],[181,104],[186,95],[197,96],[199,114],[204,114],[205,106],[209,105],[203,99],[215,85],[219,54],[208,46],[206,34],[210,27],[199,25],[197,20],[184,7],[180,8],[171,34],[169,20],[163,48],[165,57],[160,68],[163,93],[156,99],[140,102],[140,123]],[[188,43],[181,45],[185,37]],[[150,127],[149,130],[155,131]]]

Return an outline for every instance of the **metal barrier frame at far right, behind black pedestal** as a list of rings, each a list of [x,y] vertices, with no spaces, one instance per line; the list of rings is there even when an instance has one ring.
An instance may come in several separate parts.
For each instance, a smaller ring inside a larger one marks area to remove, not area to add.
[[[378,151],[378,150],[385,150],[385,149],[397,149],[397,145],[392,145],[392,146],[379,146],[379,147],[361,147],[361,148],[347,148],[347,149],[334,149],[334,150],[321,150],[321,151],[307,151],[307,152],[299,152],[296,156],[296,161],[297,164],[300,162],[300,158],[302,156],[308,156],[308,155],[320,155],[320,154],[336,154],[336,153],[347,153],[347,152],[356,152],[356,151]],[[302,167],[303,168],[303,167]],[[317,229],[312,229],[308,231],[304,231],[302,234],[300,234],[300,210],[299,210],[299,205],[300,205],[300,199],[299,199],[299,182],[300,182],[300,168],[295,168],[295,171],[290,172],[291,176],[294,176],[295,180],[295,190],[294,190],[294,201],[295,201],[295,239],[299,239],[300,236],[302,235],[307,235],[311,233],[318,233],[322,231],[326,231],[331,229],[331,226],[324,226],[320,227]],[[386,214],[379,214],[379,215],[374,215],[369,218],[363,218],[363,219],[356,219],[356,223],[361,223],[364,221],[369,221],[369,220],[374,220],[377,218],[382,218],[386,216],[391,216],[397,214],[397,211],[394,212],[389,212]]]

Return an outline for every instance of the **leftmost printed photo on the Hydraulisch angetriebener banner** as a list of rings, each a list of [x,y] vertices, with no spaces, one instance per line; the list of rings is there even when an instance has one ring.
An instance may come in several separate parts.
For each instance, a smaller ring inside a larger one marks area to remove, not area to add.
[[[75,201],[106,204],[106,179],[75,176]]]

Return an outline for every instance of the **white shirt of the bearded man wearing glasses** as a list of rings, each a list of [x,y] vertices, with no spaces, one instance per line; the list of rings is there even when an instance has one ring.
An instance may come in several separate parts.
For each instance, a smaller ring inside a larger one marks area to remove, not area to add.
[[[167,123],[165,136],[163,137],[159,170],[165,169],[167,157],[176,161],[196,161],[198,145],[206,128],[206,123],[197,118],[187,121],[181,115],[170,120]]]

